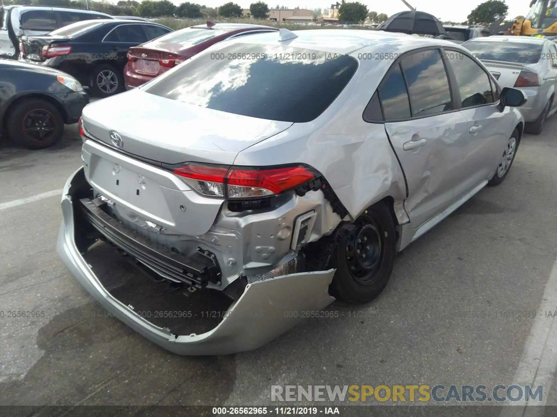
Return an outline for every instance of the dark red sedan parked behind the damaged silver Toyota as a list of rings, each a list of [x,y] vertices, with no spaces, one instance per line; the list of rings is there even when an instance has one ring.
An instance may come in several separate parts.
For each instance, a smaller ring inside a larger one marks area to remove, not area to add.
[[[129,49],[128,63],[124,68],[126,88],[152,80],[214,43],[253,33],[276,31],[278,28],[259,24],[207,22],[165,34]]]

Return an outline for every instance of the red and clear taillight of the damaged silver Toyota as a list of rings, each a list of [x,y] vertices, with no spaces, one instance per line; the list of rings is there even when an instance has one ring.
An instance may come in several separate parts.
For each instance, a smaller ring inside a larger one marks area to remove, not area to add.
[[[315,178],[304,166],[226,168],[188,163],[173,172],[199,194],[227,199],[271,197]]]

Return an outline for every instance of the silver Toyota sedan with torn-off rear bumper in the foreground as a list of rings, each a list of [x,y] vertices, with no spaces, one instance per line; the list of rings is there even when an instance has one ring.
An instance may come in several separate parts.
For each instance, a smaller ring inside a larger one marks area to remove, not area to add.
[[[85,107],[58,253],[170,351],[255,349],[333,315],[335,298],[377,297],[398,251],[505,179],[524,102],[439,39],[281,29],[219,43]],[[187,294],[185,312],[122,290],[125,259]],[[203,304],[213,296],[224,311]]]

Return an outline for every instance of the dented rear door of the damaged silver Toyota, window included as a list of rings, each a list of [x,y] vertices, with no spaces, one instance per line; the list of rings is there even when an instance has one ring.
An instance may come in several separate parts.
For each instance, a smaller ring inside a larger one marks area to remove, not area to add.
[[[378,93],[385,130],[408,182],[404,206],[417,229],[462,193],[466,119],[454,109],[440,49],[405,54]]]

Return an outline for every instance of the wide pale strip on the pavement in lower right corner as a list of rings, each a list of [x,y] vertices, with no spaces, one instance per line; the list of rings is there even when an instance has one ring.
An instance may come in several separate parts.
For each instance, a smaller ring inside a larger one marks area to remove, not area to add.
[[[538,385],[543,386],[543,403],[537,400],[518,401],[509,405],[519,407],[505,407],[501,410],[501,417],[507,416],[537,416],[543,414],[553,375],[557,368],[557,325],[553,313],[557,310],[557,260],[551,268],[549,280],[545,285],[544,295],[541,298],[534,325],[526,340],[524,353],[519,366],[516,368],[514,384],[530,385],[535,391]],[[516,391],[515,391],[516,395]],[[538,407],[532,407],[538,405]]]

